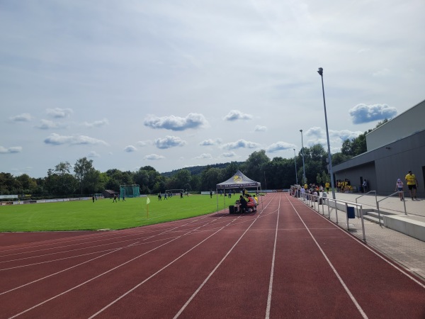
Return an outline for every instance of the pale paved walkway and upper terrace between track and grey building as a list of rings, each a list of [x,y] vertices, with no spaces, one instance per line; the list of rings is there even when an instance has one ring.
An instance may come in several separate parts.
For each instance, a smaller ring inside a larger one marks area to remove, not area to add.
[[[375,195],[365,195],[363,194],[344,194],[336,193],[336,199],[340,201],[347,201],[356,203],[361,203],[364,208],[376,208],[376,199]],[[332,194],[329,192],[329,198],[332,197]],[[359,198],[359,196],[362,196]],[[377,196],[378,201],[385,198],[385,196]],[[407,216],[404,214],[404,203],[406,204]],[[418,198],[417,201],[412,201],[412,199],[407,198],[406,201],[400,201],[398,196],[386,198],[379,203],[380,210],[389,211],[400,216],[406,216],[407,218],[412,218],[414,220],[419,220],[425,223],[425,199]],[[322,205],[317,208],[319,213],[323,214],[326,218],[329,218],[331,221],[336,223],[336,218],[338,218],[338,225],[341,228],[349,228],[350,233],[363,240],[363,228],[361,225],[361,218],[349,219],[348,227],[346,223],[346,213],[338,211],[338,216],[336,216],[335,210],[331,210],[330,216],[328,216],[327,206],[322,207]],[[417,240],[416,238],[404,235],[399,233],[396,230],[390,228],[385,228],[383,225],[380,226],[377,223],[372,223],[368,220],[364,220],[365,227],[365,243],[379,250],[382,254],[389,257],[395,262],[401,264],[407,271],[412,274],[425,279],[425,242]],[[347,247],[349,250],[350,247]]]

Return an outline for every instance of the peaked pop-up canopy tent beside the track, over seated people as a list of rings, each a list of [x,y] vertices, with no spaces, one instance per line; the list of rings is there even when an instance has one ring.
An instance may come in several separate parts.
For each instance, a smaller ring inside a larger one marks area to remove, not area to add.
[[[215,191],[215,194],[217,196],[217,213],[218,213],[218,211],[219,211],[219,209],[218,209],[219,192],[220,192],[220,195],[223,197],[223,201],[224,201],[224,204],[225,204],[224,207],[226,207],[226,198],[227,198],[228,194],[233,194],[233,191],[235,191],[235,194],[238,194],[236,196],[237,198],[235,198],[235,200],[239,199],[239,195],[242,194],[242,193],[240,193],[240,191],[243,191],[244,189],[252,189],[252,191],[254,191],[254,189],[255,189],[256,194],[258,194],[259,190],[261,192],[261,183],[259,181],[253,181],[252,179],[246,177],[238,169],[237,172],[232,177],[227,179],[227,181],[222,181],[220,184],[217,184],[216,188],[217,189]],[[236,190],[237,190],[237,193],[236,193]],[[245,195],[245,194],[242,194],[242,195]],[[260,197],[261,196],[259,196],[259,198]],[[232,207],[233,207],[233,203],[234,203],[234,201],[232,202],[232,205],[231,205]],[[261,198],[261,204],[262,203],[263,203],[263,200]],[[261,207],[262,207],[262,205],[261,205]],[[230,211],[230,207],[228,209],[229,209],[229,213],[232,213]]]

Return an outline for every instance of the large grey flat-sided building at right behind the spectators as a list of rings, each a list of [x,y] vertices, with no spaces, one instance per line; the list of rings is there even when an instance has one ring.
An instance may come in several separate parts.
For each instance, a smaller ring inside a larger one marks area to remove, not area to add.
[[[335,165],[335,179],[349,179],[360,188],[368,180],[368,190],[379,195],[395,192],[397,179],[402,179],[406,198],[409,198],[404,177],[415,174],[418,197],[425,197],[425,100],[409,108],[366,135],[368,151]]]

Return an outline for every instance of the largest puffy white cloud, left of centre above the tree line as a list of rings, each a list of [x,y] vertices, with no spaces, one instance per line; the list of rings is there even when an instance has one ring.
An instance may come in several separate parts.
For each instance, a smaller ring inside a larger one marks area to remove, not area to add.
[[[202,114],[189,113],[186,118],[179,116],[149,116],[144,121],[144,125],[149,128],[164,128],[165,130],[187,130],[189,128],[200,128],[208,122]]]

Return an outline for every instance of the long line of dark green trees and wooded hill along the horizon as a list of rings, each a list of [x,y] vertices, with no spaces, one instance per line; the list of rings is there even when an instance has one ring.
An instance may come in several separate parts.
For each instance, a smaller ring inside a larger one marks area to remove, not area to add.
[[[378,123],[376,128],[387,122]],[[345,140],[341,152],[332,155],[332,164],[336,165],[366,152],[365,135]],[[108,169],[100,172],[94,168],[93,159],[83,157],[72,165],[60,162],[47,170],[47,177],[32,178],[28,174],[13,177],[10,173],[0,173],[1,195],[28,195],[32,197],[69,196],[71,194],[91,195],[102,193],[106,189],[119,191],[120,185],[140,185],[140,194],[157,194],[166,189],[187,189],[188,191],[215,190],[215,186],[230,177],[239,169],[246,177],[261,182],[261,189],[288,189],[302,180],[302,154],[304,154],[307,183],[324,184],[330,181],[327,171],[327,152],[320,144],[304,147],[293,159],[273,157],[270,159],[265,150],[251,153],[245,162],[229,162],[189,167],[173,172],[159,173],[154,167],[145,166],[136,172]],[[296,165],[296,170],[295,170]],[[296,175],[296,177],[295,177]]]

